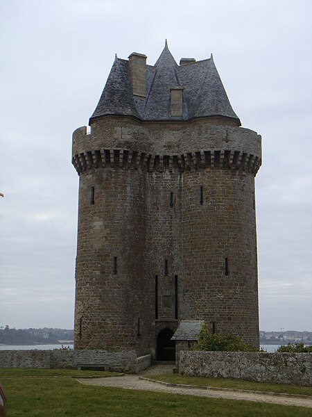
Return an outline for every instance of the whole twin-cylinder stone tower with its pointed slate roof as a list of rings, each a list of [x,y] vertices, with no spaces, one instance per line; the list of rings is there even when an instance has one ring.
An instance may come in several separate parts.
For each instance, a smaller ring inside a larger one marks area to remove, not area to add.
[[[254,177],[211,58],[115,58],[94,114],[73,132],[80,177],[75,347],[172,359],[181,320],[259,344]]]

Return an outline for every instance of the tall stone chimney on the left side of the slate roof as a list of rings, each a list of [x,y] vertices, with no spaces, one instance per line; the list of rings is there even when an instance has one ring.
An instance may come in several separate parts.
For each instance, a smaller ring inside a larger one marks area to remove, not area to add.
[[[146,55],[132,52],[129,58],[129,70],[133,95],[146,97]]]

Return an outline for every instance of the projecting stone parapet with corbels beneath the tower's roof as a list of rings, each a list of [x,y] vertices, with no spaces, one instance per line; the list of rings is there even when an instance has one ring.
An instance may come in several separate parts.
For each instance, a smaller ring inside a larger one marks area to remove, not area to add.
[[[123,118],[102,120],[90,133],[73,132],[73,165],[120,167],[148,172],[228,167],[256,175],[261,165],[261,136],[250,129],[215,126],[205,121],[139,125]]]

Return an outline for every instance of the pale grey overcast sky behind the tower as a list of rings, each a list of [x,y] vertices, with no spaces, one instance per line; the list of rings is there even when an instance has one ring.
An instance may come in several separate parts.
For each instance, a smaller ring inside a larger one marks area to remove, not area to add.
[[[312,331],[312,2],[0,1],[0,326],[73,328],[78,175],[116,53],[211,52],[257,174],[260,328]]]

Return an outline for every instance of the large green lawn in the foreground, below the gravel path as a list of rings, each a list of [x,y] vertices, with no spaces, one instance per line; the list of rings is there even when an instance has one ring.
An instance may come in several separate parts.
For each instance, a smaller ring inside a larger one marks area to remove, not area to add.
[[[87,386],[72,375],[71,370],[0,369],[8,417],[311,416],[303,407]]]

